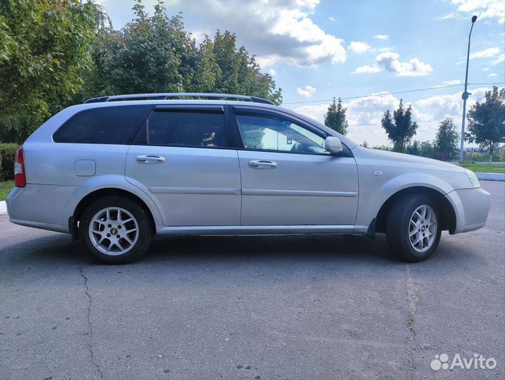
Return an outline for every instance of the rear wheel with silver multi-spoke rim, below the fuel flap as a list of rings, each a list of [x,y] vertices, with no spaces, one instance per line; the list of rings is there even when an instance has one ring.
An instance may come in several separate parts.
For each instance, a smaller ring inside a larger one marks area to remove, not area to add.
[[[84,210],[79,236],[98,261],[124,264],[146,253],[153,239],[153,227],[139,203],[124,196],[106,196]]]

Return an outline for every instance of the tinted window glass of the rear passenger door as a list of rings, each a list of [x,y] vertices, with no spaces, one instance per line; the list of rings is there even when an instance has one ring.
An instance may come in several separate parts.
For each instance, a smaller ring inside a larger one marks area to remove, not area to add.
[[[146,125],[149,145],[226,147],[224,113],[155,111]]]

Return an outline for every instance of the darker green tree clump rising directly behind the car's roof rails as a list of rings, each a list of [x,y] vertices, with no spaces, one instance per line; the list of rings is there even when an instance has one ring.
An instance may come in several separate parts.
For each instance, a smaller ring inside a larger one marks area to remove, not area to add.
[[[236,46],[236,35],[217,30],[200,44],[170,17],[162,1],[146,13],[141,0],[122,30],[103,27],[92,49],[94,70],[82,98],[152,92],[218,92],[260,96],[281,103],[281,90],[261,72],[255,57]]]

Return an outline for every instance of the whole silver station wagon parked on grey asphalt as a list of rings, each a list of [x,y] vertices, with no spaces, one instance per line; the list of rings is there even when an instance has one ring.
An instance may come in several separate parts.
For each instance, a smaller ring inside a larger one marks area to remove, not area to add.
[[[364,148],[265,99],[135,94],[41,125],[16,154],[7,208],[109,263],[141,257],[154,234],[385,233],[421,261],[442,230],[483,227],[490,194],[469,170]]]

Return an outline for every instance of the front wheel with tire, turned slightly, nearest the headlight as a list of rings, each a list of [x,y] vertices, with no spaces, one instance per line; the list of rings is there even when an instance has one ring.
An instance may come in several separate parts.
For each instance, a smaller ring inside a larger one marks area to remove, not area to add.
[[[399,258],[427,260],[440,241],[441,215],[437,203],[425,194],[404,196],[393,203],[386,221],[386,239]]]

